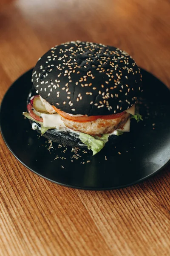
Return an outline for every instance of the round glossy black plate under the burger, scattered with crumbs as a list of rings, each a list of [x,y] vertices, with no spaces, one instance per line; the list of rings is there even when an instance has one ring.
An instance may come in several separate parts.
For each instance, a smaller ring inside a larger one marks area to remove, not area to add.
[[[28,169],[58,184],[79,189],[116,189],[138,183],[162,169],[170,160],[170,91],[156,77],[142,70],[143,122],[131,121],[130,133],[115,146],[94,157],[91,151],[70,147],[48,150],[50,143],[31,130],[26,100],[32,87],[29,70],[7,91],[0,109],[0,129],[14,156]],[[57,159],[55,159],[57,158]],[[55,159],[55,160],[54,160]],[[88,161],[88,163],[87,163]]]

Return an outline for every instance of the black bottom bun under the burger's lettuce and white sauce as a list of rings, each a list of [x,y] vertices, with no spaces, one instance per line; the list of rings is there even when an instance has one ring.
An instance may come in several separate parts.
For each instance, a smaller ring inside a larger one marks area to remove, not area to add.
[[[33,121],[29,120],[30,123],[32,124]],[[40,125],[38,123],[36,123],[38,127],[40,127]],[[36,130],[39,134],[41,134],[40,130]],[[77,148],[87,148],[87,145],[83,145],[83,143],[81,142],[81,140],[79,140],[79,137],[74,136],[73,133],[70,132],[56,132],[54,129],[50,129],[47,130],[45,132],[45,134],[42,135],[43,137],[45,137],[48,140],[51,140],[55,143],[58,144],[62,144],[62,145],[67,145],[67,146],[71,146],[71,147],[77,147]],[[115,144],[117,141],[120,142],[120,140],[122,139],[122,137],[124,136],[116,136],[116,135],[111,135],[109,137],[108,142],[105,144],[105,146],[110,146],[112,144]]]

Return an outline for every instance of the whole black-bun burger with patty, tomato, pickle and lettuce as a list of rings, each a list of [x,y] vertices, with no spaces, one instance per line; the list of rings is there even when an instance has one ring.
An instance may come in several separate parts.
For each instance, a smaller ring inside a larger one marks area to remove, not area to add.
[[[32,128],[47,139],[88,147],[93,155],[130,131],[142,92],[142,75],[127,52],[92,42],[52,47],[32,73],[27,112]]]

